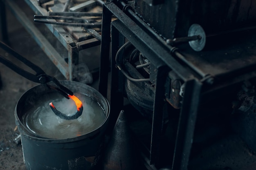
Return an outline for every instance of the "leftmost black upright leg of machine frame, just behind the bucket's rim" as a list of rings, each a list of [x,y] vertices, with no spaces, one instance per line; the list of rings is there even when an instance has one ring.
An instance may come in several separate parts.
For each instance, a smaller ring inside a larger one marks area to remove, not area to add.
[[[103,5],[101,28],[101,58],[99,72],[99,92],[107,97],[108,67],[110,52],[110,22],[112,13]]]

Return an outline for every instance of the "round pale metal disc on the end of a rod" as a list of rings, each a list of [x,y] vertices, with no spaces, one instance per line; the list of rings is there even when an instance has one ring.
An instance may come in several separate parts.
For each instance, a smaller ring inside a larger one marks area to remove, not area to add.
[[[206,35],[204,29],[199,24],[192,24],[189,27],[188,36],[190,37],[194,35],[200,35],[201,38],[198,40],[189,41],[189,45],[195,51],[202,51],[202,49],[204,49],[205,46]]]

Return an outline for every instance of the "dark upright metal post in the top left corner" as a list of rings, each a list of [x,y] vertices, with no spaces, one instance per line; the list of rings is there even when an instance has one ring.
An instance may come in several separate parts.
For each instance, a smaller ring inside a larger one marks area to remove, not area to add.
[[[2,0],[0,0],[0,26],[1,26],[2,40],[4,42],[8,42],[5,4],[4,2],[2,2]]]

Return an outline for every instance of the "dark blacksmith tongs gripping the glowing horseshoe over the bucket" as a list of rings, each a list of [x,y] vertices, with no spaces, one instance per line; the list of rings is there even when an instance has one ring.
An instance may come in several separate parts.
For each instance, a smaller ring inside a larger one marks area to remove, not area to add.
[[[3,42],[0,41],[0,48],[4,49],[6,52],[10,53],[13,55],[13,57],[16,57],[16,59],[20,60],[23,62],[25,65],[27,65],[29,68],[34,70],[36,74],[29,73],[28,71],[23,70],[22,68],[16,66],[9,60],[5,59],[2,55],[0,55],[0,62],[6,65],[7,67],[11,68],[13,71],[21,75],[22,77],[25,77],[32,82],[40,83],[40,84],[46,84],[48,82],[54,82],[57,87],[55,86],[50,86],[47,84],[49,88],[53,88],[54,90],[60,92],[62,95],[64,95],[67,99],[69,99],[68,94],[73,95],[73,92],[70,91],[68,88],[63,86],[58,80],[50,75],[47,75],[40,67],[37,65],[33,64],[29,60],[27,60],[25,57],[22,57],[19,53],[11,49],[11,47],[7,46]]]

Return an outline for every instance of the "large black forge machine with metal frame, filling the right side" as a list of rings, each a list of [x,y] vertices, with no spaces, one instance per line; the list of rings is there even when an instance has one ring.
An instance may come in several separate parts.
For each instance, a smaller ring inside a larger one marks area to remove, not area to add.
[[[236,0],[103,5],[99,91],[107,95],[111,47],[112,117],[127,97],[150,122],[149,137],[137,134],[148,169],[231,170],[254,163],[254,154],[239,164],[223,148],[206,148],[230,134],[244,139],[243,153],[247,145],[255,148],[255,8]]]

